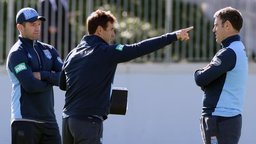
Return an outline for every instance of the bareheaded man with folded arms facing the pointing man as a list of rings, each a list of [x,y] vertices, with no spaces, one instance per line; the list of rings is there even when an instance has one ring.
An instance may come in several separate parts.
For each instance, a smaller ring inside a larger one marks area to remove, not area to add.
[[[195,82],[204,91],[200,129],[204,144],[238,144],[241,135],[248,62],[239,31],[241,13],[232,7],[214,15],[213,32],[223,47],[205,68],[195,71]]]

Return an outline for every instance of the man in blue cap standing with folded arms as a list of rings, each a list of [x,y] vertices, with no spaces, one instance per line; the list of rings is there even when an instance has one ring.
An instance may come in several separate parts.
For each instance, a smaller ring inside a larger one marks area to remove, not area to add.
[[[29,7],[16,16],[19,40],[6,64],[13,84],[12,144],[61,144],[52,86],[58,86],[63,63],[53,46],[37,41],[41,21],[45,20]]]

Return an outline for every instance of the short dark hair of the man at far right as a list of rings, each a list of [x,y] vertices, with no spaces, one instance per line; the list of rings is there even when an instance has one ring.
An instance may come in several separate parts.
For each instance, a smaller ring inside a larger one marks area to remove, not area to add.
[[[233,28],[238,32],[241,30],[243,26],[243,18],[239,10],[234,9],[233,7],[225,7],[220,9],[214,14],[214,18],[220,17],[222,20],[222,24],[224,24],[227,20],[232,24]]]

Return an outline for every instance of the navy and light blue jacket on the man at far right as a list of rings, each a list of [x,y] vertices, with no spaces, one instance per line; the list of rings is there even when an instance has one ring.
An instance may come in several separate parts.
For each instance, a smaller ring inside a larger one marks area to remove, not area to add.
[[[195,82],[204,90],[202,115],[236,116],[241,114],[248,77],[245,46],[239,35],[221,42],[223,48],[208,68],[195,71]]]

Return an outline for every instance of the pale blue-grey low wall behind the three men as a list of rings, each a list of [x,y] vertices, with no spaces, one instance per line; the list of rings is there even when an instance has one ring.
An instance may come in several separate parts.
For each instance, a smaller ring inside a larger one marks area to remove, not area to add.
[[[128,88],[125,116],[109,115],[104,122],[104,144],[202,144],[199,118],[202,91],[193,72],[206,63],[144,64],[118,66],[114,87]],[[0,140],[11,143],[11,82],[0,68]],[[256,66],[249,66],[243,128],[239,144],[255,142]],[[54,87],[55,113],[61,130],[64,92]]]

